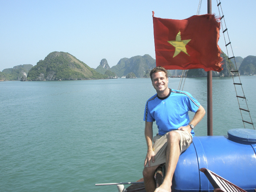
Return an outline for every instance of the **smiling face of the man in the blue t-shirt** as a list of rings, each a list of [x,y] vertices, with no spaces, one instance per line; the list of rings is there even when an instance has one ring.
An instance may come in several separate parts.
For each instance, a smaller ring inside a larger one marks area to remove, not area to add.
[[[168,78],[166,78],[163,71],[152,74],[152,85],[156,89],[157,93],[164,92],[168,89]]]

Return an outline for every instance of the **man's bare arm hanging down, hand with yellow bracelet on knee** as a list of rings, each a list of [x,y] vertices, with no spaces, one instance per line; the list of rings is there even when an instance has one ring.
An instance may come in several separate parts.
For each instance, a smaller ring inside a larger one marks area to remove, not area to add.
[[[155,161],[155,153],[153,151],[153,122],[145,122],[145,138],[148,146],[148,152],[147,156],[144,162],[144,167],[146,166],[148,162],[148,166],[150,167],[150,159],[152,158],[152,161]]]

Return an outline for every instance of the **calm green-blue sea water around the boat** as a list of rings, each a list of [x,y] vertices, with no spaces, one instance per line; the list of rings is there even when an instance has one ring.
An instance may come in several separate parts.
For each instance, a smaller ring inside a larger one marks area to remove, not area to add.
[[[205,109],[206,81],[187,78],[183,89]],[[256,76],[241,81],[256,122]],[[169,87],[179,82],[170,78]],[[147,152],[144,108],[154,94],[143,78],[0,82],[0,191],[110,192],[116,186],[95,183],[139,180]],[[232,78],[213,77],[214,135],[244,128],[238,108]],[[195,132],[207,135],[207,116]]]

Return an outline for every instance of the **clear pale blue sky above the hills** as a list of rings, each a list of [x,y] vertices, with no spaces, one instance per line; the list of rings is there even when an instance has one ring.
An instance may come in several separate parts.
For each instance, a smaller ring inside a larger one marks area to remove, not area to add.
[[[53,51],[69,52],[89,67],[106,58],[110,67],[124,57],[155,58],[155,17],[186,19],[199,0],[44,0],[0,1],[0,71],[36,65]],[[256,55],[256,1],[221,1],[234,55]],[[200,14],[207,13],[204,0]],[[212,13],[219,15],[217,1]],[[222,35],[222,33],[221,33]],[[223,36],[220,47],[226,52]]]

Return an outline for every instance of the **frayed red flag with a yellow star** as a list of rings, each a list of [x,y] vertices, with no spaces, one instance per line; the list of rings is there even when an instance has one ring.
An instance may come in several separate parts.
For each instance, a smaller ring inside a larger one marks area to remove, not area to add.
[[[214,15],[194,15],[184,20],[154,17],[156,66],[165,69],[222,70],[218,45],[220,22]]]

